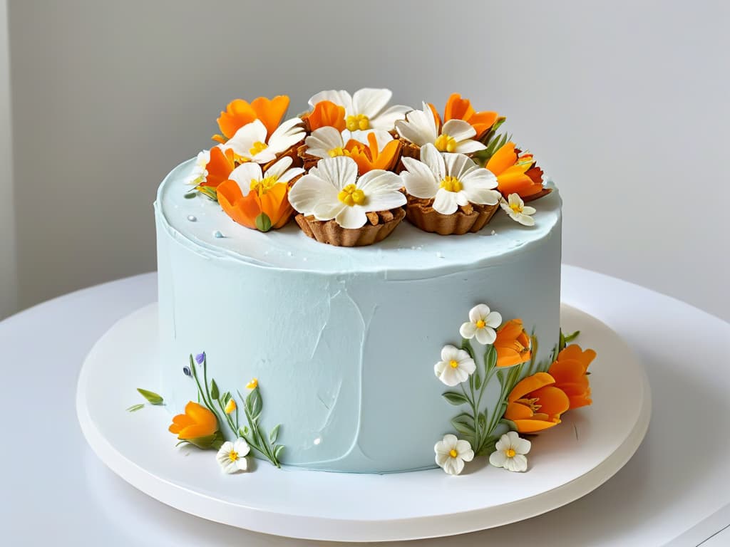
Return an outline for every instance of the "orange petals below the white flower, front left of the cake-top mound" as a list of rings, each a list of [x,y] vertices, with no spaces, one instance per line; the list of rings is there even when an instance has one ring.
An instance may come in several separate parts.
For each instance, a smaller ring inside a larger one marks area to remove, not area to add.
[[[285,225],[294,209],[289,204],[289,185],[277,182],[268,189],[251,190],[243,195],[241,187],[233,180],[226,180],[218,186],[218,203],[228,217],[246,228],[256,228],[256,217],[266,213],[272,228]]]

